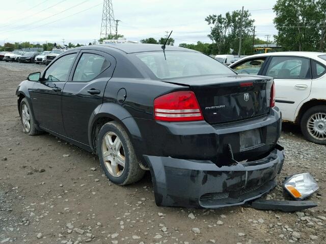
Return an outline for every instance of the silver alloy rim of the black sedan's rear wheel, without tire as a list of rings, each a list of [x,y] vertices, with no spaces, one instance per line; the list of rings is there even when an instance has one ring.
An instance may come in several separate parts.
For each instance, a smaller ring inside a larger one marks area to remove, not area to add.
[[[102,141],[102,157],[105,168],[114,177],[123,174],[125,168],[125,153],[120,138],[114,132],[108,132]]]

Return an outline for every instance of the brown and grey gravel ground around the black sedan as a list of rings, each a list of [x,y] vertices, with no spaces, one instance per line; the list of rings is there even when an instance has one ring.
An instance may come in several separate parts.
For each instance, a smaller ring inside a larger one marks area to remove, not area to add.
[[[218,210],[157,207],[149,173],[119,187],[95,155],[54,136],[22,132],[15,90],[43,65],[0,62],[0,243],[325,243],[325,146],[284,124],[286,161],[266,196],[289,199],[281,182],[310,172],[318,207],[284,213],[244,207]]]

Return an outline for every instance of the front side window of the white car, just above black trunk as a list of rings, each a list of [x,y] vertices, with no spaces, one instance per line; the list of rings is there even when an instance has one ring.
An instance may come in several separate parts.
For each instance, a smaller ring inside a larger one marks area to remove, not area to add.
[[[260,56],[245,59],[237,64],[232,64],[230,67],[238,74],[260,75],[265,61],[266,57]]]

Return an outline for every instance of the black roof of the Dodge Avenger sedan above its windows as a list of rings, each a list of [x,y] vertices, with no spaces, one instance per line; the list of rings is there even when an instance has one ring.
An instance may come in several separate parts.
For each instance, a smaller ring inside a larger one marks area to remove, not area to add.
[[[123,51],[125,53],[134,53],[134,52],[151,52],[151,51],[162,51],[162,45],[160,44],[99,44],[99,45],[92,45],[92,48],[100,47],[100,48],[115,48],[120,51]],[[85,47],[84,47],[85,48]],[[84,49],[83,47],[80,47],[80,49]],[[87,49],[90,48],[90,46],[86,47]],[[187,49],[183,47],[177,47],[177,46],[166,46],[166,51],[193,51],[197,52],[196,50]]]

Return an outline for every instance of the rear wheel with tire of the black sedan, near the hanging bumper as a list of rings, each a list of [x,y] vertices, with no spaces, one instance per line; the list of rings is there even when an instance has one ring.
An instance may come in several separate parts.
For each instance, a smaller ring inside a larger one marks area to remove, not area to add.
[[[128,134],[116,121],[102,126],[97,154],[105,175],[117,185],[128,185],[144,176]]]

